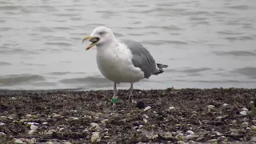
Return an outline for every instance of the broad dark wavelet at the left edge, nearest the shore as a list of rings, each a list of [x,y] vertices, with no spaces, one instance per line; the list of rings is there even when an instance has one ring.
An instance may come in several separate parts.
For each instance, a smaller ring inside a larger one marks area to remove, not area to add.
[[[0,86],[38,82],[44,80],[45,78],[42,75],[37,74],[10,74],[0,77]]]

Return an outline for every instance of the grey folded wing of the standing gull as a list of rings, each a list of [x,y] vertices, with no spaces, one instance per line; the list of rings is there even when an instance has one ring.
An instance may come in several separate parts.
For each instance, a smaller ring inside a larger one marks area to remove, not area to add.
[[[144,72],[145,78],[150,78],[150,75],[156,70],[156,63],[150,52],[138,42],[126,39],[120,40],[120,42],[125,44],[133,54],[132,62],[134,66]]]

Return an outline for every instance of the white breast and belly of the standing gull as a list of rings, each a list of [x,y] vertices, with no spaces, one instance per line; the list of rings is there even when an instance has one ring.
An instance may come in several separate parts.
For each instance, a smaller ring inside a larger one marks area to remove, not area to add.
[[[131,62],[132,54],[124,45],[97,50],[98,69],[110,81],[138,82],[144,73]]]

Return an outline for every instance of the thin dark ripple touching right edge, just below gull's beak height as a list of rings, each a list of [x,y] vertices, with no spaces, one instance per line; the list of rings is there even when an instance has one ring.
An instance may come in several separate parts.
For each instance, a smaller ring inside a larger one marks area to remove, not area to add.
[[[217,55],[232,55],[232,56],[255,56],[256,52],[245,50],[232,50],[232,51],[213,51]]]

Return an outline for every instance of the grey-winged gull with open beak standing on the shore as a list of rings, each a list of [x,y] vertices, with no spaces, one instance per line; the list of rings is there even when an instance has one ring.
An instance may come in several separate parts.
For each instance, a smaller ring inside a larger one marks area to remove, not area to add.
[[[134,82],[143,78],[150,78],[151,74],[162,74],[167,65],[156,63],[152,55],[139,42],[132,40],[118,40],[113,32],[104,26],[96,27],[90,36],[83,38],[82,42],[91,43],[86,50],[96,46],[96,60],[98,69],[104,77],[114,82],[113,106],[118,99],[117,84],[130,83],[129,99],[134,90]]]

